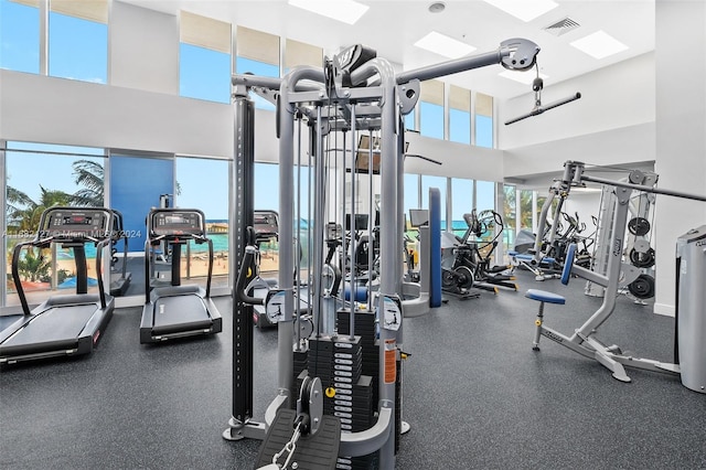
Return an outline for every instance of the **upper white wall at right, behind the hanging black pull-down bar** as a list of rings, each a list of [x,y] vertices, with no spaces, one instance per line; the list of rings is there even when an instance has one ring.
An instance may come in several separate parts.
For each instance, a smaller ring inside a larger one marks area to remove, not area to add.
[[[545,81],[543,104],[581,93],[581,98],[505,126],[530,111],[534,94],[503,102],[499,138],[506,178],[528,180],[559,173],[566,160],[632,167],[654,161],[654,54],[648,53],[580,77]]]

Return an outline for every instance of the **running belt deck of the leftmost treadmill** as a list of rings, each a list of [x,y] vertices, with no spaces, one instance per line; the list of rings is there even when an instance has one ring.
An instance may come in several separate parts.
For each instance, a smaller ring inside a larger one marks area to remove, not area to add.
[[[2,343],[2,355],[51,351],[76,343],[96,305],[54,307],[36,314],[15,334]]]

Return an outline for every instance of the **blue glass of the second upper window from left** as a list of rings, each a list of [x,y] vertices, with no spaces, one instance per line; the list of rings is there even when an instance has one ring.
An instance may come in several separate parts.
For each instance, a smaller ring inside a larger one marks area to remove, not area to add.
[[[107,83],[108,25],[50,12],[49,74]]]

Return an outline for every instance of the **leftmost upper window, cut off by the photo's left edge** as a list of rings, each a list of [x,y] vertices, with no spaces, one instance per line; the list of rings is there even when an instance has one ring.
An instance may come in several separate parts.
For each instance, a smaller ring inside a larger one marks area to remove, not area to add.
[[[40,73],[40,0],[0,0],[0,68]]]

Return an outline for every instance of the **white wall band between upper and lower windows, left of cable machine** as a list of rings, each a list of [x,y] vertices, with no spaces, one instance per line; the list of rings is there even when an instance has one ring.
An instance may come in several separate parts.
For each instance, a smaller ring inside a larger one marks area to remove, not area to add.
[[[0,138],[231,157],[229,105],[0,70]]]

